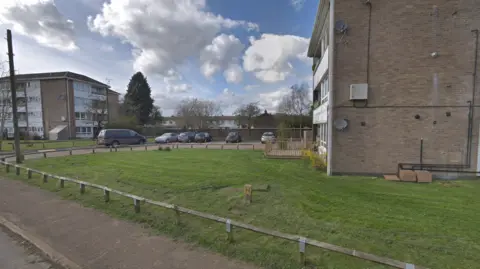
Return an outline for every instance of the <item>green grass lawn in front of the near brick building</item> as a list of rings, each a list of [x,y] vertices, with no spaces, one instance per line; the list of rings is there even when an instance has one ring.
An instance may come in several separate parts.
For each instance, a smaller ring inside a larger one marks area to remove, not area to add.
[[[387,182],[361,177],[328,178],[303,161],[269,160],[261,152],[174,150],[117,152],[30,160],[28,167],[103,184],[158,201],[229,217],[256,226],[423,265],[478,268],[480,264],[480,182],[432,184]],[[12,176],[14,177],[14,176]],[[26,176],[22,176],[27,180]],[[33,184],[58,191],[55,183]],[[270,184],[242,201],[243,185]],[[225,225],[143,206],[100,190],[80,195],[66,183],[69,199],[145,223],[159,233],[198,243],[267,268],[298,268],[298,243],[236,229],[226,240]],[[311,268],[389,268],[338,253],[307,248]]]

